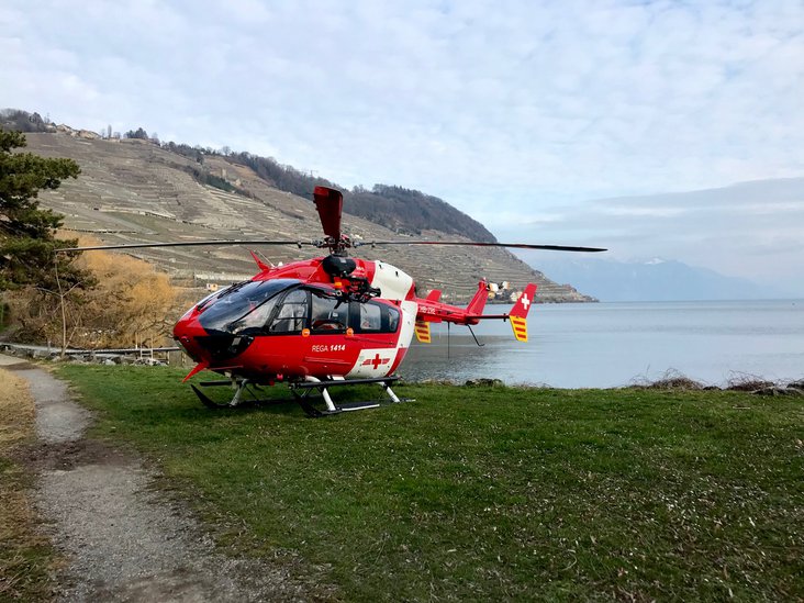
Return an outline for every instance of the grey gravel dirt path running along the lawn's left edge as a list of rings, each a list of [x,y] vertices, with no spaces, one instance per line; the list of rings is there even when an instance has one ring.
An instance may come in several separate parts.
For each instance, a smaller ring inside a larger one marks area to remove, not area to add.
[[[214,551],[180,504],[154,489],[130,456],[83,439],[91,415],[47,371],[16,370],[31,386],[42,446],[35,503],[69,559],[58,577],[64,601],[303,601],[281,568]]]

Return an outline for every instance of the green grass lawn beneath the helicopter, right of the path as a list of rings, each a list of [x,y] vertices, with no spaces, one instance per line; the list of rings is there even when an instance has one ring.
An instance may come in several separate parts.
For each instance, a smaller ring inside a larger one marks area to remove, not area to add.
[[[804,598],[802,399],[400,386],[417,401],[310,420],[210,411],[167,368],[59,373],[222,547],[345,600]]]

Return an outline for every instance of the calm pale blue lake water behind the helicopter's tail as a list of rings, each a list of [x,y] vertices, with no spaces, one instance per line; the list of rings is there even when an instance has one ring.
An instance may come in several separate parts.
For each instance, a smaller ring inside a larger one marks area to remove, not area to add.
[[[465,326],[432,328],[432,344],[414,337],[402,377],[557,388],[619,387],[668,371],[716,386],[745,375],[804,377],[804,300],[534,305],[528,343],[507,322],[484,321],[472,327],[483,347]]]

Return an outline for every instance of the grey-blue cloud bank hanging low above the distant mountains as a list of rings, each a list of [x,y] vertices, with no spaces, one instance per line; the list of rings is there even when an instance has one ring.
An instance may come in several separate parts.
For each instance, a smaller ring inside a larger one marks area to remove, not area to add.
[[[550,214],[558,215],[558,214]],[[804,272],[804,178],[674,194],[601,199],[528,230],[604,246],[621,260],[661,256],[730,276],[797,282]],[[522,228],[510,236],[523,237]]]

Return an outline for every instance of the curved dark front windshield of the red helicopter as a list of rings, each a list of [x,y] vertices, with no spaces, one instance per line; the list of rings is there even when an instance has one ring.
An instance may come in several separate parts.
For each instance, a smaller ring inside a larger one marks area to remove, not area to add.
[[[232,323],[295,284],[299,281],[294,279],[252,280],[233,284],[209,299],[205,305],[199,304],[199,310],[202,310],[199,322],[206,331],[230,331]]]

